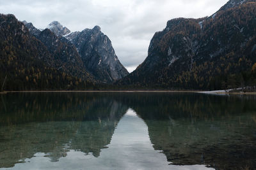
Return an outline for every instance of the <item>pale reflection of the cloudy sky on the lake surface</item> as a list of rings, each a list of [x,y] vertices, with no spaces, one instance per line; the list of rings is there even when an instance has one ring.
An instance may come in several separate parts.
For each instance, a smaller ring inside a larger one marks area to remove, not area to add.
[[[67,144],[68,145],[68,144]],[[67,147],[68,150],[68,147]],[[145,122],[129,109],[118,123],[108,148],[99,157],[68,150],[65,157],[50,162],[45,153],[36,153],[10,169],[209,169],[205,166],[169,166],[166,156],[154,150]]]

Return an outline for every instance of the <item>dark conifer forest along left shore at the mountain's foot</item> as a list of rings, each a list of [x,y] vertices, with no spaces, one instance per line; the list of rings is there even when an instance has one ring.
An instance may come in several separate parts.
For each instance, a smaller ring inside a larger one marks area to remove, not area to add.
[[[12,50],[8,52],[1,50],[1,90],[3,83],[3,90],[78,90],[93,89],[96,86],[91,81],[70,76],[46,66],[41,60],[31,60],[27,57],[24,55],[20,59]]]

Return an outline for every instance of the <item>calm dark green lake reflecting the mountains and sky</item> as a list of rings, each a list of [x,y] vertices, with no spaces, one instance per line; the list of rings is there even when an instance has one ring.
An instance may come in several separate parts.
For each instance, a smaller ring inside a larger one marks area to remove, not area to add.
[[[250,169],[256,96],[0,94],[0,169]]]

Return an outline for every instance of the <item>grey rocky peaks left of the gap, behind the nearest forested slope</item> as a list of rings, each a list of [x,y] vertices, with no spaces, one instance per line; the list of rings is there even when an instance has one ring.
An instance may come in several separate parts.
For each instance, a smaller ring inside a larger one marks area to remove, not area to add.
[[[49,52],[58,58],[58,69],[70,67],[70,74],[79,77],[86,70],[103,83],[112,83],[129,74],[116,57],[108,36],[100,31],[99,26],[70,33],[56,21],[51,22],[44,31],[36,29],[26,21],[23,23],[29,33],[44,43]],[[78,69],[72,70],[74,67]]]

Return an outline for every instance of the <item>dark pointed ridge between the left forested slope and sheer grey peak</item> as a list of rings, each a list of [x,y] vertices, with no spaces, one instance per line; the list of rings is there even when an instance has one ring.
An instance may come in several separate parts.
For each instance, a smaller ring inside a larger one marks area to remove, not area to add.
[[[54,23],[54,22],[52,22]],[[40,31],[33,24],[23,22],[29,30],[29,33],[40,40],[47,47],[47,50],[54,56],[52,65],[58,70],[64,70],[72,76],[82,78],[92,78],[92,75],[86,72],[83,61],[72,43],[62,36],[56,36],[50,29]],[[60,24],[59,24],[60,25]],[[51,61],[45,60],[50,63]]]

